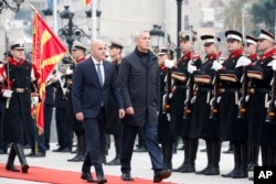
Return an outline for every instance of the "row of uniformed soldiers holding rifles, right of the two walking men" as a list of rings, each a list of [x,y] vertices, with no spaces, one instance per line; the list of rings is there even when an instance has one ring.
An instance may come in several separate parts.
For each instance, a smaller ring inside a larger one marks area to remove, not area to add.
[[[200,36],[202,61],[193,51],[197,34],[192,30],[179,33],[182,57],[178,61],[171,58],[170,46],[159,50],[163,83],[159,141],[164,165],[174,172],[219,175],[223,141],[234,148],[234,167],[223,177],[248,177],[248,171],[258,166],[259,148],[261,165],[276,164],[275,34],[261,30],[254,37],[229,30],[225,37],[227,57],[222,57],[221,39],[214,33]],[[172,144],[178,137],[184,144],[183,162],[172,169]],[[199,139],[205,141],[208,164],[198,171]]]

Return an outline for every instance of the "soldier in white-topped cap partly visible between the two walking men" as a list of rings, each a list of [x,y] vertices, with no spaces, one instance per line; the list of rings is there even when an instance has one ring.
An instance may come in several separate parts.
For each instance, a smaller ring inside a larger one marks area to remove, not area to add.
[[[119,65],[123,59],[121,52],[124,48],[123,43],[119,41],[110,41],[109,56],[112,63],[115,65],[116,72],[119,71]],[[114,136],[115,158],[107,162],[106,165],[120,165],[120,149],[121,149],[121,122],[118,116],[118,110],[114,98],[110,99],[110,117],[107,120],[106,133]]]

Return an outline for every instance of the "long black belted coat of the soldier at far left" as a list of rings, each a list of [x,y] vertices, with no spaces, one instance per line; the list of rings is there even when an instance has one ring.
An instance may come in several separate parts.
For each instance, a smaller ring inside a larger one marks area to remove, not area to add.
[[[32,65],[24,61],[21,65],[6,65],[9,71],[9,79],[13,90],[9,108],[3,111],[3,141],[23,143],[30,140],[31,130],[34,128],[31,121],[31,69]],[[23,89],[23,93],[17,91]]]

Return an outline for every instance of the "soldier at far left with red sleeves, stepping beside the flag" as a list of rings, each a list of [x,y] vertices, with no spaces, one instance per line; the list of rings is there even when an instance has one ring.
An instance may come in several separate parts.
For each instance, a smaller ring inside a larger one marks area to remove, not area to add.
[[[2,96],[6,98],[3,111],[3,141],[11,142],[6,170],[20,172],[14,166],[14,159],[18,155],[21,163],[22,173],[28,173],[22,143],[30,140],[33,122],[31,121],[31,88],[36,80],[34,67],[24,59],[24,42],[18,40],[11,43],[10,51],[12,57],[6,65],[1,66],[0,80],[4,83]]]

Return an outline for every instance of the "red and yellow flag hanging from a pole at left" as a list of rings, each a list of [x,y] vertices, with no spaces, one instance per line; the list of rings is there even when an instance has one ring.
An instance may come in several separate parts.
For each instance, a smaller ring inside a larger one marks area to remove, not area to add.
[[[41,15],[35,13],[33,19],[33,63],[40,73],[38,84],[41,102],[36,108],[36,125],[40,133],[43,132],[44,128],[43,104],[46,79],[65,53],[66,47],[49,28]]]

